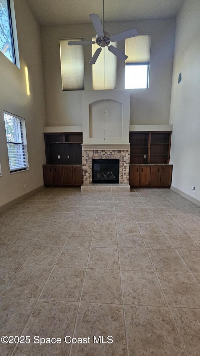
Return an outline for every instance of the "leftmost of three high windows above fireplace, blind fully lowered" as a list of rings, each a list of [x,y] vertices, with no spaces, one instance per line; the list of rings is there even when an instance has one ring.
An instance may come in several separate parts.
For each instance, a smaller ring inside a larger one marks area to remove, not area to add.
[[[84,90],[83,46],[69,46],[68,41],[83,41],[83,38],[60,40],[62,89]]]

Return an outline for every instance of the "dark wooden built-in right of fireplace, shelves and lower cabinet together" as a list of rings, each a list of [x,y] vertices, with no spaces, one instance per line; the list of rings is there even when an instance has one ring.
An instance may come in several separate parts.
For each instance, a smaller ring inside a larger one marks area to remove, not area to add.
[[[171,131],[130,132],[129,184],[132,187],[171,186],[172,165],[169,165],[171,133]]]

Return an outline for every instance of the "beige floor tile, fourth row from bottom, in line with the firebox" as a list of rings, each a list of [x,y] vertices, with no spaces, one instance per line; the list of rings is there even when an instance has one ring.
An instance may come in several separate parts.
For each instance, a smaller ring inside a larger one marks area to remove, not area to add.
[[[117,234],[115,232],[94,232],[92,247],[117,248]]]

